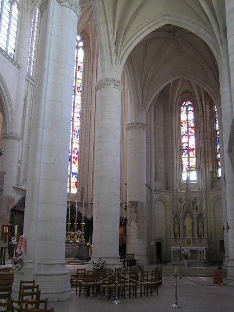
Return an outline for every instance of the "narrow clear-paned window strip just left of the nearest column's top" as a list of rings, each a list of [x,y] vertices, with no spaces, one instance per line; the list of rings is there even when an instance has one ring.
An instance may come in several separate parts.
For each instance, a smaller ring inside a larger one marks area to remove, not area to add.
[[[30,75],[33,75],[33,64],[34,64],[34,58],[35,58],[36,38],[37,38],[37,30],[38,30],[38,16],[39,16],[39,8],[37,7],[36,12],[32,17],[31,35],[30,35],[30,43],[29,43],[29,51],[28,51],[27,72]]]

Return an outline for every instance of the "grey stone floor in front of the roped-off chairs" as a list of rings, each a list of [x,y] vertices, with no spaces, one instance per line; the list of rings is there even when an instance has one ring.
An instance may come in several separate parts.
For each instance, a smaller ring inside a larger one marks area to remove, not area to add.
[[[68,268],[69,269],[69,268]],[[166,278],[167,276],[163,276]],[[85,298],[73,292],[72,299],[65,302],[50,302],[55,312],[233,312],[234,286],[213,285],[212,277],[177,277],[177,303],[179,309],[172,308],[175,302],[174,276],[163,281],[158,295],[119,298],[121,304],[113,304],[111,299],[100,300],[98,297]],[[205,284],[205,285],[204,285]]]

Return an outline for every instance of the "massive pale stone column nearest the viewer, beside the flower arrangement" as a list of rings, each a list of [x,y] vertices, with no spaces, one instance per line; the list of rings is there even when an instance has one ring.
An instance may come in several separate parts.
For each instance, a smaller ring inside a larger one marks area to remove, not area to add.
[[[71,298],[65,229],[78,0],[44,1],[29,144],[22,280],[36,280],[50,301]],[[15,294],[14,294],[15,295]],[[14,296],[15,297],[15,296]]]

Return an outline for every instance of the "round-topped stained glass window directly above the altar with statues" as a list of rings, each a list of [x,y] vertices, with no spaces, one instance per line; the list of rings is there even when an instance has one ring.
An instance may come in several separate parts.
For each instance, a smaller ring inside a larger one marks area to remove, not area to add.
[[[196,154],[194,111],[190,101],[185,101],[180,108],[181,144],[182,144],[182,179],[196,180]]]

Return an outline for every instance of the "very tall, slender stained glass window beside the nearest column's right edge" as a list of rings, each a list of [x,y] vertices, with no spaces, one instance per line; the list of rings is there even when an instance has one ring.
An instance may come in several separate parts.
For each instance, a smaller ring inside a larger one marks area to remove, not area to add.
[[[81,116],[81,90],[83,75],[84,49],[81,36],[76,38],[75,66],[74,66],[74,83],[73,99],[71,113],[71,131],[70,131],[70,148],[69,148],[69,165],[68,165],[68,183],[67,192],[69,194],[77,193],[77,172],[79,156],[79,139],[80,139],[80,116]]]

